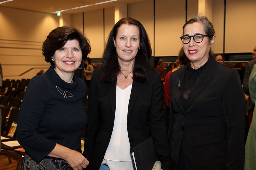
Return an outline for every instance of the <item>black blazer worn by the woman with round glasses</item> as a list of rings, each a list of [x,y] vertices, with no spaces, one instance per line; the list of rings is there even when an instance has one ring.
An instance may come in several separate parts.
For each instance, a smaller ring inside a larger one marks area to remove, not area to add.
[[[245,98],[238,72],[210,57],[185,111],[180,96],[187,69],[188,65],[170,77],[172,160],[179,164],[182,146],[187,170],[244,169]]]

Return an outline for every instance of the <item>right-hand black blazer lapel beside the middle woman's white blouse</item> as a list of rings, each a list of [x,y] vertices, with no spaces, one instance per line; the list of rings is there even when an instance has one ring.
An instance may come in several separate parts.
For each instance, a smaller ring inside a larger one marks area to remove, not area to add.
[[[132,111],[132,107],[133,104],[139,94],[140,88],[142,86],[143,83],[137,82],[135,80],[132,81],[132,91],[131,91],[131,96],[130,96],[130,100],[129,100],[129,105],[128,105],[128,115],[127,118],[129,117],[131,111]]]

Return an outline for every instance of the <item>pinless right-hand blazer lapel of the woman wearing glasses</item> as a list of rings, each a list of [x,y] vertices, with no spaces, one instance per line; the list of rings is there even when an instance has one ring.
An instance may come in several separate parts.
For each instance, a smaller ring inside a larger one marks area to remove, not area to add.
[[[189,96],[188,96],[188,107],[191,102],[196,98],[196,96],[205,88],[206,85],[212,80],[214,76],[214,67],[216,61],[210,56],[208,59],[208,63],[205,66],[203,72],[196,80],[196,84],[191,89]]]

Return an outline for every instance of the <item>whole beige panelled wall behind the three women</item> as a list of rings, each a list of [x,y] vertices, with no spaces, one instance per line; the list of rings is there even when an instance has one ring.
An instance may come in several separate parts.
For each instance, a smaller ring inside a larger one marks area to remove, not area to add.
[[[128,17],[138,19],[145,27],[154,56],[178,55],[186,18],[185,5],[185,1],[176,0],[127,4]],[[187,20],[202,9],[205,14],[208,12],[217,37],[213,50],[223,53],[224,0],[188,0],[187,6]],[[226,0],[224,53],[248,53],[255,47],[255,6],[255,0]],[[92,46],[89,57],[101,58],[105,41],[115,24],[115,6],[63,15],[62,19],[63,24],[84,30]],[[60,18],[56,14],[0,7],[0,23],[0,63],[4,79],[32,78],[41,68],[47,70],[49,63],[44,61],[42,43],[50,31],[60,25]],[[19,76],[27,70],[30,71]]]

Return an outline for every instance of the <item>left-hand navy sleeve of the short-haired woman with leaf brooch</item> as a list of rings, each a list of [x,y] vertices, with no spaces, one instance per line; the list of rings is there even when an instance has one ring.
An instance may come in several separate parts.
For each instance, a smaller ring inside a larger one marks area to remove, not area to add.
[[[38,132],[47,103],[47,83],[43,76],[32,78],[26,89],[17,123],[17,140],[36,162],[46,157],[56,142]]]

